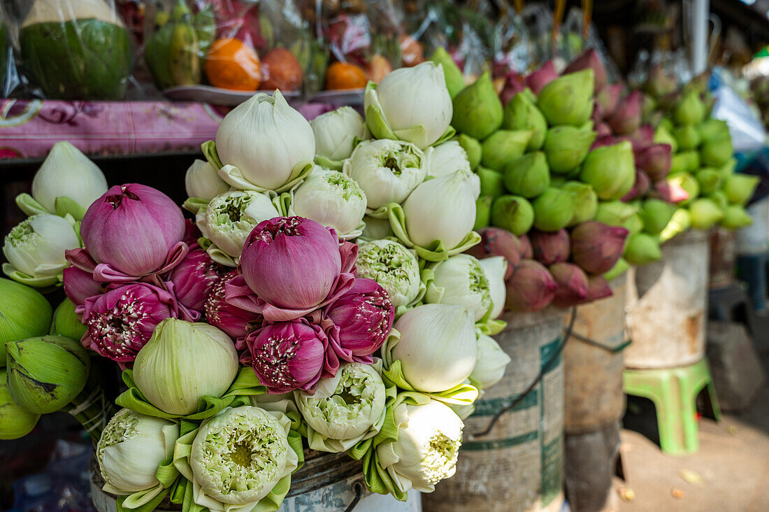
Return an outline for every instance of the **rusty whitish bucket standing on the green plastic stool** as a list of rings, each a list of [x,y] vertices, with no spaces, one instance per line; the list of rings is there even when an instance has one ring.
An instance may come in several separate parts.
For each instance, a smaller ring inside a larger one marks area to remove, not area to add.
[[[628,270],[628,368],[669,368],[705,353],[708,233],[691,230],[662,245],[662,259]]]

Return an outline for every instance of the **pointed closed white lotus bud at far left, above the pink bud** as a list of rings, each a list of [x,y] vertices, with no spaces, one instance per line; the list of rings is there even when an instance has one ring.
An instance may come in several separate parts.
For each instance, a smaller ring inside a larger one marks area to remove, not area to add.
[[[107,179],[94,162],[69,142],[56,142],[35,172],[32,197],[48,212],[56,212],[56,198],[68,197],[85,212],[107,192]]]

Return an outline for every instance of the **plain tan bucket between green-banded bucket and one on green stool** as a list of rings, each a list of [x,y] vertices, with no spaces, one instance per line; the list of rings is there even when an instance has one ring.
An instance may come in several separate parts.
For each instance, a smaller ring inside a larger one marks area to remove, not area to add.
[[[564,430],[585,433],[616,423],[624,414],[622,350],[625,346],[626,276],[609,283],[612,296],[578,306],[564,347]],[[565,323],[571,314],[564,316]]]

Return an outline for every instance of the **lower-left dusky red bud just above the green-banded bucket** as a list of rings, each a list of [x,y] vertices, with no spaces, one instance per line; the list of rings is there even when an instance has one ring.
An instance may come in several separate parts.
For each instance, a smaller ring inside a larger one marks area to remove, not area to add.
[[[552,302],[558,284],[544,265],[534,259],[523,259],[506,287],[508,310],[534,313]]]

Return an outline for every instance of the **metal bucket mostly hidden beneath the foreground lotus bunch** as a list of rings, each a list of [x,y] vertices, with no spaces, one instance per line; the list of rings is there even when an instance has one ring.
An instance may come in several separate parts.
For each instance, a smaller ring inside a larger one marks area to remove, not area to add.
[[[98,470],[91,474],[91,493],[98,512],[117,512],[115,496],[102,490]],[[181,506],[164,501],[158,512],[179,512]],[[408,492],[408,500],[373,494],[366,489],[361,462],[345,453],[305,453],[305,465],[291,476],[291,490],[278,512],[421,512],[421,496]]]

